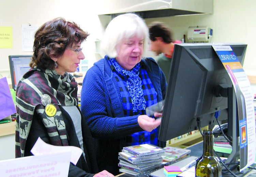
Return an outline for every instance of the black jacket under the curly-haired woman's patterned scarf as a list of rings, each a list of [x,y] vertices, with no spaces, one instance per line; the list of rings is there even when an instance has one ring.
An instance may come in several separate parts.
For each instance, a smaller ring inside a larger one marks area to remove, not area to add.
[[[77,107],[78,108],[78,107]],[[73,121],[69,114],[60,106],[60,109],[62,111],[63,115],[63,121],[66,125],[66,133],[67,133],[67,141],[69,146],[76,146],[80,147],[75,127],[73,124]],[[78,108],[79,109],[79,108]],[[98,173],[99,170],[97,168],[97,163],[95,159],[95,153],[94,153],[94,146],[93,141],[91,138],[90,131],[88,129],[88,126],[86,124],[85,118],[81,115],[81,127],[82,127],[82,136],[83,136],[83,144],[84,144],[84,152],[86,156],[86,161],[83,155],[81,155],[80,159],[78,160],[77,164],[74,165],[70,163],[69,167],[69,177],[92,177],[95,173]],[[46,131],[46,128],[44,126],[44,123],[42,122],[39,115],[34,112],[32,125],[29,131],[29,135],[26,142],[26,148],[24,156],[32,156],[30,150],[34,146],[36,140],[38,137],[47,144],[52,144],[48,133]],[[90,153],[90,154],[88,154]]]

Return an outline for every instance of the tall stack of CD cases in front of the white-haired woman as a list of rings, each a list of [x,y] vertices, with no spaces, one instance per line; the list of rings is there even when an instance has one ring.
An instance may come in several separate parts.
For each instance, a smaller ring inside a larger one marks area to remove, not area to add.
[[[121,167],[119,171],[136,176],[160,167],[164,151],[164,148],[151,144],[124,147],[122,152],[119,152],[118,166]]]

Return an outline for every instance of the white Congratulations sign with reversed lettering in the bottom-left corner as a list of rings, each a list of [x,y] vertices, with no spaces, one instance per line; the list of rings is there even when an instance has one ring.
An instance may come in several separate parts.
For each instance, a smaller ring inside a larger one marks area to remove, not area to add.
[[[69,174],[71,151],[0,161],[1,177],[61,176]]]

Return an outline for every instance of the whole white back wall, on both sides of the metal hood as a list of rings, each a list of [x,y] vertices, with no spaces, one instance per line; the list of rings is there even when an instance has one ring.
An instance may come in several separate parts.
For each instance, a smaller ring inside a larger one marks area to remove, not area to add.
[[[163,21],[174,31],[174,38],[181,39],[187,35],[189,26],[209,26],[213,29],[213,43],[245,43],[247,51],[243,68],[247,75],[256,75],[256,1],[255,0],[214,0],[213,14],[174,16],[146,19],[146,23]],[[115,5],[115,0],[109,0]],[[97,0],[2,0],[0,11],[0,26],[13,27],[13,48],[0,49],[0,73],[6,77],[9,74],[8,55],[32,54],[21,51],[21,25],[42,25],[44,22],[64,17],[73,20],[80,27],[90,33],[87,41],[82,45],[89,65],[99,58],[94,53],[95,41],[101,39],[104,28],[109,22],[109,16],[97,16],[97,12],[104,7]]]

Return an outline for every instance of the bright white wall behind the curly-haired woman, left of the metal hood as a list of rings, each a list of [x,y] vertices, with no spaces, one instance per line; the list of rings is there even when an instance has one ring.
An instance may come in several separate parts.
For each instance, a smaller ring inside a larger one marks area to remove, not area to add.
[[[89,65],[95,60],[95,40],[103,34],[105,18],[99,17],[95,2],[89,0],[1,0],[0,26],[12,27],[13,48],[0,49],[0,74],[10,77],[9,55],[26,55],[32,52],[21,51],[21,25],[29,23],[41,26],[44,22],[56,17],[75,21],[82,29],[90,33],[82,44],[83,52]]]

